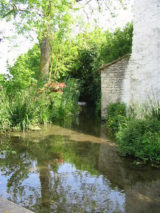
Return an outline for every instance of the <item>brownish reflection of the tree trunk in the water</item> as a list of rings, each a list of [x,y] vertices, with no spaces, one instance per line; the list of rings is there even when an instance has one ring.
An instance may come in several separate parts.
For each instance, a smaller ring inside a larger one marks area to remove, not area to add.
[[[60,141],[59,141],[60,142]],[[58,186],[59,179],[56,178],[59,164],[63,163],[61,145],[58,148],[52,141],[44,140],[37,144],[37,166],[39,168],[39,176],[41,183],[41,204],[38,208],[39,212],[51,212],[52,190],[54,186]],[[35,147],[34,147],[35,148]],[[34,149],[32,149],[34,152]],[[54,181],[51,177],[51,171],[54,172]],[[53,190],[56,196],[56,187]]]

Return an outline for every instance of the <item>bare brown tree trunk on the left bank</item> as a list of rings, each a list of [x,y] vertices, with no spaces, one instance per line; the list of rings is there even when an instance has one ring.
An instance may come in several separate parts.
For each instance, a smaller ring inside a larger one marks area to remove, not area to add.
[[[49,77],[50,44],[49,37],[42,38],[39,81],[47,81]]]

